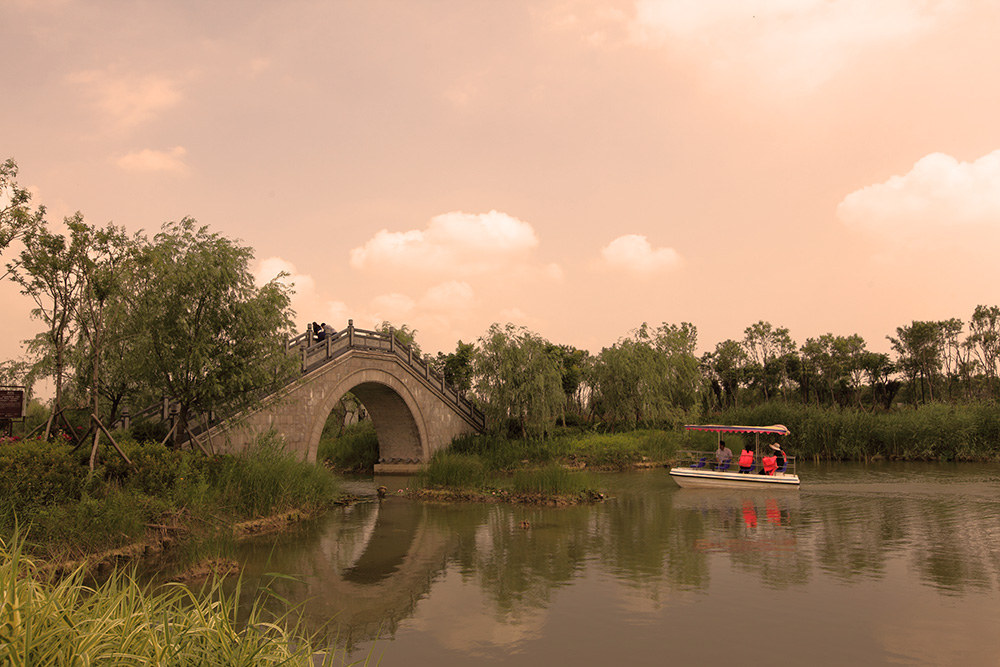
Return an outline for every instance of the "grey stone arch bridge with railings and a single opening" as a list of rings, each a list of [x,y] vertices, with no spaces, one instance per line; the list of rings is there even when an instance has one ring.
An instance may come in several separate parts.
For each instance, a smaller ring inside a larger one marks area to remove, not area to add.
[[[259,433],[276,431],[285,447],[315,462],[320,435],[341,397],[365,406],[379,441],[375,471],[417,470],[452,439],[481,432],[483,413],[448,385],[390,331],[347,329],[315,341],[310,332],[286,343],[301,357],[302,374],[264,398],[259,407],[200,436],[215,451],[238,451]]]

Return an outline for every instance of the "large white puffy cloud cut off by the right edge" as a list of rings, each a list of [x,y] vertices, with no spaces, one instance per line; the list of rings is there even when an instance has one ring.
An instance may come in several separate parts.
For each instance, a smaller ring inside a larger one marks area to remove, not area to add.
[[[887,234],[1000,228],[1000,150],[975,162],[931,153],[909,173],[844,197],[837,216],[852,227]]]

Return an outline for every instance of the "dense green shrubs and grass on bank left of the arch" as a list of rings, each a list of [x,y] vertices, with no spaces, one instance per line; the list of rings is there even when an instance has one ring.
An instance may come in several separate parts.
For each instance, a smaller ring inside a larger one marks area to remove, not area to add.
[[[189,546],[232,540],[240,522],[310,513],[336,500],[324,468],[295,460],[262,439],[237,455],[206,457],[156,443],[119,443],[91,472],[89,452],[37,440],[0,446],[0,536],[29,526],[25,548],[45,558],[80,558],[154,536]],[[187,538],[180,539],[178,538]]]

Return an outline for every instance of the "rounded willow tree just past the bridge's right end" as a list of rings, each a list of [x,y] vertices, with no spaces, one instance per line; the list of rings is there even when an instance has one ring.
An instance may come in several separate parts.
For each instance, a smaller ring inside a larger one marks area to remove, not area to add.
[[[493,324],[479,338],[473,363],[476,391],[494,430],[509,421],[522,437],[538,437],[564,401],[562,362],[541,336],[513,324]]]

